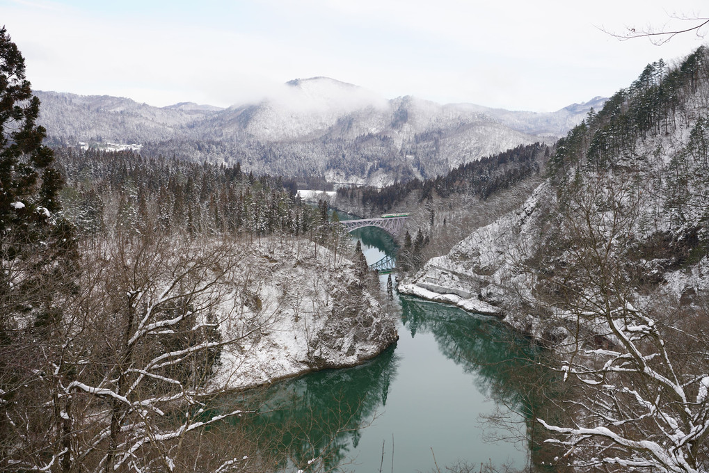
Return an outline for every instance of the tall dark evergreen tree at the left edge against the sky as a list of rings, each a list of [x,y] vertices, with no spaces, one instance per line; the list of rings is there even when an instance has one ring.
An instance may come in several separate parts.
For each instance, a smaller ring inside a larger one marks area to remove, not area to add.
[[[57,218],[63,180],[36,126],[40,102],[25,62],[0,28],[0,328],[13,313],[35,323],[56,317],[52,299],[73,270],[74,229]]]

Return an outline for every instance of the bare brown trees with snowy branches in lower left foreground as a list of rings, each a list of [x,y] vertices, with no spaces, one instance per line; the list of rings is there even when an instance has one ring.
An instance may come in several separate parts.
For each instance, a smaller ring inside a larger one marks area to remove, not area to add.
[[[241,414],[208,404],[223,393],[211,384],[220,348],[261,329],[250,321],[229,339],[219,330],[243,248],[143,234],[86,252],[82,290],[26,364],[36,367],[26,399],[6,405],[4,438],[16,441],[3,469],[195,471],[180,462],[204,428]],[[242,452],[225,461],[238,466]]]

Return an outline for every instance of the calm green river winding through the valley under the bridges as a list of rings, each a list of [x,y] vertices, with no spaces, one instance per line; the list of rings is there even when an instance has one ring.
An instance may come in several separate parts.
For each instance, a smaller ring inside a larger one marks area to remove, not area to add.
[[[369,264],[395,248],[378,228],[353,238]],[[386,278],[380,275],[383,288]],[[382,355],[269,389],[257,422],[281,466],[357,473],[445,472],[459,461],[477,465],[474,471],[481,463],[525,467],[527,444],[484,419],[496,413],[526,432],[529,415],[520,413],[532,406],[515,377],[533,364],[535,346],[496,318],[403,296],[394,304],[400,340]]]

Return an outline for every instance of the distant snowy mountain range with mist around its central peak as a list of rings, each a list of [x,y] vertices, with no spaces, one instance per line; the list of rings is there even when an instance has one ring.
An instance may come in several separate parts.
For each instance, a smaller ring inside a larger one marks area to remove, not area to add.
[[[54,145],[136,143],[150,155],[374,185],[432,177],[520,144],[553,141],[605,100],[554,113],[506,111],[414,96],[389,100],[328,77],[294,79],[267,99],[230,108],[36,94],[40,124]]]

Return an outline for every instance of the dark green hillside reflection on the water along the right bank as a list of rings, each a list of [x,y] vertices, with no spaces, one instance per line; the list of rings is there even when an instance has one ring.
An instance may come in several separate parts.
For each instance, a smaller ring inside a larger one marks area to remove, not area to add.
[[[536,419],[559,413],[552,400],[564,386],[555,382],[557,374],[545,368],[544,358],[551,354],[496,318],[406,296],[400,300],[401,318],[411,337],[432,333],[441,354],[462,367],[477,389],[495,401],[495,416],[502,417],[496,417],[497,425],[492,422],[486,427],[514,429],[518,440],[525,443],[532,469],[540,469],[542,462],[549,464],[553,455],[543,443],[547,436]],[[511,425],[515,414],[520,424]]]

